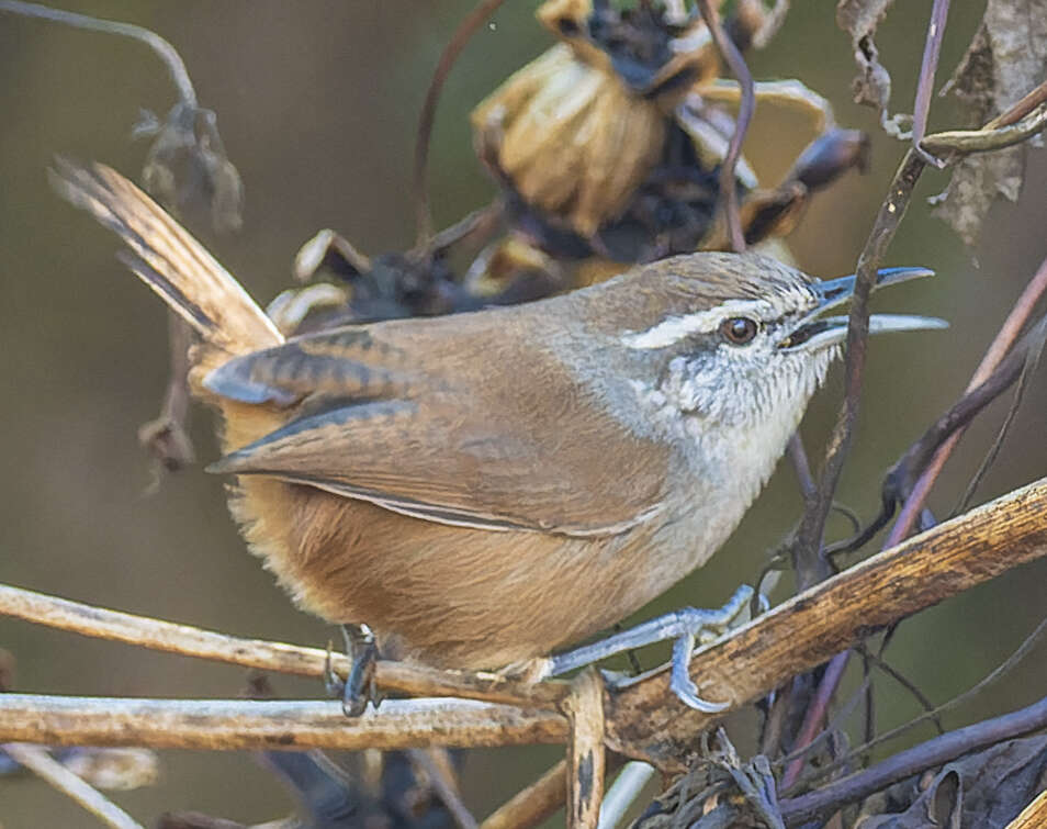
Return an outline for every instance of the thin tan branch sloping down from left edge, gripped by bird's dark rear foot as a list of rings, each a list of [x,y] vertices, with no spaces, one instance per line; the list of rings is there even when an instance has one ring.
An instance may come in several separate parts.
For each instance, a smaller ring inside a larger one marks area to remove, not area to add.
[[[183,657],[252,668],[259,671],[326,675],[328,652],[262,639],[241,639],[190,625],[109,610],[43,593],[0,584],[0,615],[100,639],[137,645]],[[342,677],[349,660],[329,654],[331,668]],[[380,660],[375,682],[386,691],[412,696],[455,696],[530,708],[555,708],[570,685],[563,682],[526,683],[493,673],[440,671],[403,662]]]

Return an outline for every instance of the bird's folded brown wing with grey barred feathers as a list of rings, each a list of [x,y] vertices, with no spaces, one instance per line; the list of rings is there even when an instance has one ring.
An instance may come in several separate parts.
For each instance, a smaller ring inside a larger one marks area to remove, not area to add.
[[[212,372],[205,383],[216,394],[292,406],[283,427],[213,471],[273,475],[491,530],[612,534],[660,508],[658,447],[600,415],[540,348],[517,360],[510,382],[495,382],[484,367],[505,356],[498,326],[489,336],[472,332],[463,347],[466,338],[450,336],[447,325],[413,320],[338,329]],[[439,360],[421,357],[434,348],[442,350]],[[419,362],[427,372],[412,368]],[[566,439],[579,428],[585,440]]]

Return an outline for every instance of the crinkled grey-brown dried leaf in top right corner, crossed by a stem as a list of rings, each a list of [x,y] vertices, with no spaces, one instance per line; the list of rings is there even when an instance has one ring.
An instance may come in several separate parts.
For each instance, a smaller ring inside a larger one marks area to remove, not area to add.
[[[989,0],[986,15],[948,89],[981,126],[1043,82],[1047,69],[1047,0]],[[968,245],[997,197],[1015,201],[1025,170],[1024,145],[972,155],[958,164],[935,214]]]

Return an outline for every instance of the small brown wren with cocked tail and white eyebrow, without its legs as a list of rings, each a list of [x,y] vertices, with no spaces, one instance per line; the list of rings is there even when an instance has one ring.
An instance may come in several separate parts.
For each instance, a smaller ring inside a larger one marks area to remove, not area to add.
[[[234,477],[249,548],[301,608],[428,665],[545,659],[706,563],[846,334],[825,311],[854,277],[696,253],[527,304],[285,338],[122,175],[52,175],[196,333],[190,385],[221,419],[210,470]]]

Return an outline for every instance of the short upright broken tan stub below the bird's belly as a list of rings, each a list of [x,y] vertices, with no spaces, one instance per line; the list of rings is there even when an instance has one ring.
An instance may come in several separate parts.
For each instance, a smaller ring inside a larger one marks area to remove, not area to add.
[[[595,668],[578,674],[564,701],[567,741],[567,827],[596,829],[604,800],[604,683]]]

